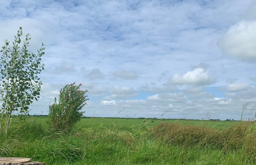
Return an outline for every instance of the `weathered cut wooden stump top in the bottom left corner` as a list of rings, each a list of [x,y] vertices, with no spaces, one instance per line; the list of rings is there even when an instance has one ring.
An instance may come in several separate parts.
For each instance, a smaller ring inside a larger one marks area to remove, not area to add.
[[[0,165],[44,165],[44,162],[31,162],[30,158],[0,157]]]

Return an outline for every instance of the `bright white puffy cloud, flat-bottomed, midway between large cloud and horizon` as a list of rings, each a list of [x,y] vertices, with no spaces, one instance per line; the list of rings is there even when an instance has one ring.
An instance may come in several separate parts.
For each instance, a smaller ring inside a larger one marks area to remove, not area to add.
[[[215,78],[209,76],[203,68],[195,68],[184,75],[174,74],[170,79],[170,83],[176,85],[208,85],[214,82]]]

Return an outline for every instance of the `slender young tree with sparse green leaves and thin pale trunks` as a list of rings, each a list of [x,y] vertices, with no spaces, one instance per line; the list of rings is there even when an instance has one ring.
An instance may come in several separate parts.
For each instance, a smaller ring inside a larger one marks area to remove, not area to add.
[[[37,54],[29,53],[30,34],[26,35],[22,48],[20,48],[22,27],[19,28],[15,36],[13,46],[9,48],[9,43],[5,40],[5,45],[0,51],[0,96],[2,107],[0,110],[0,136],[3,127],[3,115],[6,115],[5,134],[10,125],[10,118],[13,111],[27,113],[28,106],[39,98],[39,91],[42,82],[38,74],[44,70],[41,64],[41,57],[45,54],[42,43]]]

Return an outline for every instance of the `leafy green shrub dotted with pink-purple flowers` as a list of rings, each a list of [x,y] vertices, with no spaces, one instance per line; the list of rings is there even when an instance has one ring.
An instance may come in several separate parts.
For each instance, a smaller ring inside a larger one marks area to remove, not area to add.
[[[88,90],[80,90],[75,83],[67,84],[60,90],[59,102],[54,98],[54,104],[49,106],[49,125],[54,130],[70,131],[83,116],[82,108],[87,104]]]

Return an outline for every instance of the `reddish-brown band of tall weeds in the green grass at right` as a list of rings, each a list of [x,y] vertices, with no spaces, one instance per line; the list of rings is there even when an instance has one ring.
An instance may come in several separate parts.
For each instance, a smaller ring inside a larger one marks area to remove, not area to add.
[[[223,151],[237,151],[244,147],[245,153],[256,159],[256,129],[254,128],[252,122],[240,122],[222,130],[200,125],[181,126],[176,123],[163,122],[150,129],[149,136],[185,147],[196,144],[200,147],[216,147]]]

